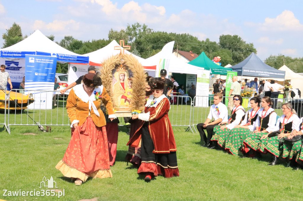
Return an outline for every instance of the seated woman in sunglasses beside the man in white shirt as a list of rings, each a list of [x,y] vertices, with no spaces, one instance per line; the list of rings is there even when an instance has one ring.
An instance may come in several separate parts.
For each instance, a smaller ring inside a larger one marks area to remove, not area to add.
[[[239,125],[244,118],[245,111],[242,107],[242,97],[240,95],[235,95],[233,98],[235,107],[231,110],[231,118],[228,122],[221,122],[218,126],[214,127],[214,135],[211,138],[211,141],[217,141],[218,145],[221,147],[225,146],[226,138],[229,134],[229,131],[235,126]],[[226,124],[227,125],[223,125]],[[216,148],[216,144],[211,148]]]

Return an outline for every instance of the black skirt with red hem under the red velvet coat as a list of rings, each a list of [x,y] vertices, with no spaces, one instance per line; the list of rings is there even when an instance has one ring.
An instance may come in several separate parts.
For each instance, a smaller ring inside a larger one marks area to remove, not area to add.
[[[152,173],[153,176],[163,175],[166,178],[179,176],[176,152],[168,154],[153,153],[154,144],[151,139],[148,122],[142,126],[141,165],[138,174]]]

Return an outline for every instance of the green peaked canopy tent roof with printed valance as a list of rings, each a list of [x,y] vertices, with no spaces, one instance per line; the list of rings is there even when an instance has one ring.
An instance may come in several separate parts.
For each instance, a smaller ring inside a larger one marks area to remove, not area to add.
[[[224,68],[223,66],[215,64],[204,52],[202,52],[196,59],[188,62],[188,64],[203,67],[205,70],[210,70],[211,74],[216,75],[227,75],[227,71],[232,71],[230,68]]]

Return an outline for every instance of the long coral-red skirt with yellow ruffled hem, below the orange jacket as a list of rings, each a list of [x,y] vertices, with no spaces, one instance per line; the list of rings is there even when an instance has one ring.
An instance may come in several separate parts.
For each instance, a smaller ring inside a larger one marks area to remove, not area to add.
[[[112,177],[105,126],[96,126],[88,117],[84,124],[72,129],[71,141],[56,168],[65,177],[79,178],[83,182],[88,177]]]

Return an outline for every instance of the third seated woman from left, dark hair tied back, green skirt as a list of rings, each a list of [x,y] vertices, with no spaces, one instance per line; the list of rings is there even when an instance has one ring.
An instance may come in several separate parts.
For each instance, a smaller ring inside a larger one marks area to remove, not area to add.
[[[258,118],[256,120],[256,129],[253,133],[249,134],[243,142],[243,151],[248,153],[251,149],[257,151],[260,148],[261,137],[264,133],[275,130],[275,123],[277,119],[277,113],[271,106],[272,102],[270,97],[264,96],[261,99],[261,109],[258,112]],[[252,152],[252,151],[250,151]],[[255,152],[256,157],[260,156],[260,152]]]

